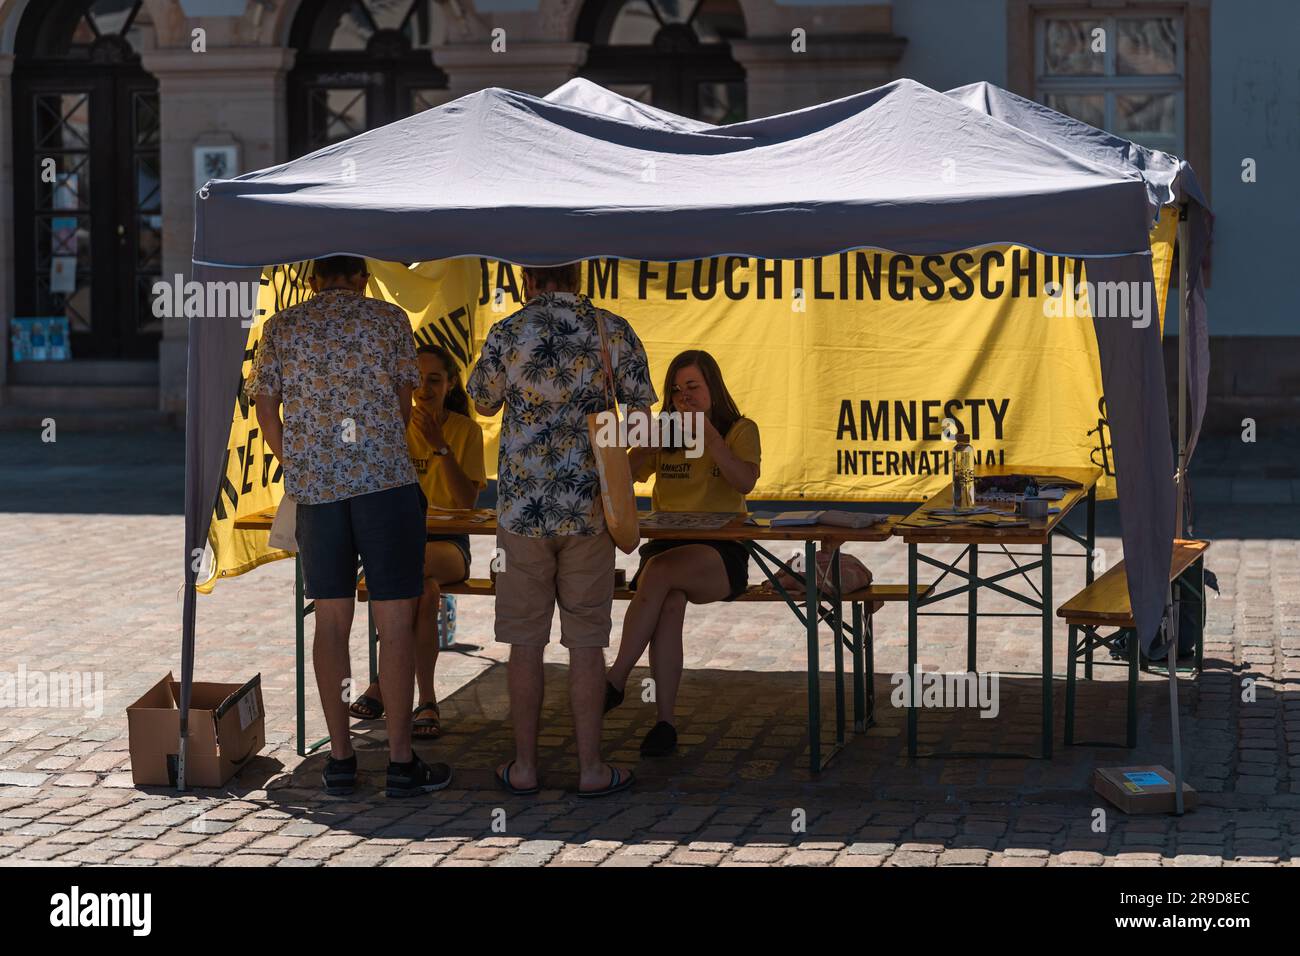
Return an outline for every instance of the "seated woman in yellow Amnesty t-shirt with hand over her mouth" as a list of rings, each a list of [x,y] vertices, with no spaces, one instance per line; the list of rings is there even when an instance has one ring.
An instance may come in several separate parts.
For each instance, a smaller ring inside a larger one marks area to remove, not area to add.
[[[745,512],[745,496],[759,473],[758,425],[744,418],[714,356],[681,352],[668,365],[664,408],[703,412],[703,454],[685,450],[633,449],[632,473],[651,473],[655,511]],[[623,702],[628,675],[650,646],[659,722],[641,743],[641,753],[662,757],[677,745],[672,711],[681,683],[681,627],[686,604],[732,601],[749,587],[749,551],[740,541],[650,541],[641,548],[641,567],[632,580],[636,597],[623,619],[619,656],[610,666],[604,709]]]

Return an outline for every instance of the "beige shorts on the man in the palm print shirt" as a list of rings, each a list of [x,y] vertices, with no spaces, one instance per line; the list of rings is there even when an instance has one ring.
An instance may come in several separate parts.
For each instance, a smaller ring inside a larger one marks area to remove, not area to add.
[[[497,641],[545,646],[560,606],[560,644],[610,646],[614,540],[601,535],[524,537],[497,531]]]

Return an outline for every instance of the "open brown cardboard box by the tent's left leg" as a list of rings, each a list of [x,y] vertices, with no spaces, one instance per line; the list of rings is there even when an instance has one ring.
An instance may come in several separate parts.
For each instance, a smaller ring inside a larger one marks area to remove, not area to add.
[[[181,684],[172,672],[126,709],[135,786],[176,786],[181,740]],[[266,743],[261,674],[246,684],[195,682],[185,780],[220,787]]]

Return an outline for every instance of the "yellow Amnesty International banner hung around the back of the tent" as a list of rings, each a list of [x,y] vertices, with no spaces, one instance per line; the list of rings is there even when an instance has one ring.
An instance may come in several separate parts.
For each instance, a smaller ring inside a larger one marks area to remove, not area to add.
[[[1121,303],[1135,312],[1145,302],[1161,326],[1175,219],[1165,209],[1152,230],[1154,295],[1132,290]],[[520,269],[493,260],[368,267],[368,294],[399,304],[419,341],[442,343],[467,365],[493,323],[523,299]],[[311,295],[308,271],[309,263],[265,271],[240,390],[265,319]],[[982,463],[1101,467],[1098,494],[1108,498],[1114,463],[1092,303],[1079,287],[1086,278],[1074,260],[1004,246],[942,256],[862,250],[819,260],[590,260],[584,291],[632,323],[660,397],[679,351],[712,352],[762,436],[751,498],[923,499],[949,480],[954,428],[970,433]],[[1065,293],[1049,295],[1049,282]],[[490,477],[499,423],[481,423]],[[233,527],[281,494],[280,467],[240,394],[200,591],[287,557],[268,548],[266,532]]]

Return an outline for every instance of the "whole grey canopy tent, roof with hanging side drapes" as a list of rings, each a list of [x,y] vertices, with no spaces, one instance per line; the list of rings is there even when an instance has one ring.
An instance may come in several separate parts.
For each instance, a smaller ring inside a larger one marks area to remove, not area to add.
[[[940,160],[959,165],[959,185],[945,182]],[[926,255],[1017,243],[1083,259],[1091,281],[1150,282],[1157,208],[1132,169],[1074,155],[911,81],[727,127],[642,104],[611,118],[484,90],[291,163],[207,183],[195,206],[194,278],[256,281],[264,265],[337,254],[545,265],[595,256],[806,259],[862,247]],[[1174,536],[1160,336],[1154,324],[1117,319],[1095,319],[1093,328],[1130,593],[1149,645],[1167,601]],[[246,333],[238,319],[190,323],[182,786],[195,649],[191,555],[216,499]]]

